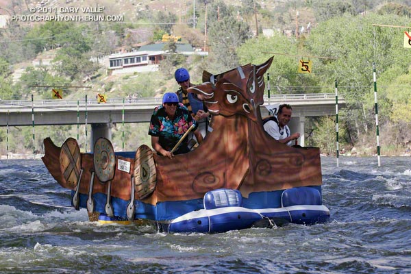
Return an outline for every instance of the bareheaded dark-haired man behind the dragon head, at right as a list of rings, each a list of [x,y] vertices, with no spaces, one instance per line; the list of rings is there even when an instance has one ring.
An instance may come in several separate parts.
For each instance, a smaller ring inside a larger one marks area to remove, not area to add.
[[[270,134],[275,140],[282,142],[283,144],[292,145],[292,140],[297,140],[300,134],[297,132],[291,134],[288,122],[290,122],[292,114],[291,105],[282,104],[279,105],[277,117],[269,116],[262,121],[264,130]]]

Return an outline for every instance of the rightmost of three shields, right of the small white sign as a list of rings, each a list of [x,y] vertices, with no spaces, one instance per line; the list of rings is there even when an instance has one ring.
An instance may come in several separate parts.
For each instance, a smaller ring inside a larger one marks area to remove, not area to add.
[[[141,145],[134,158],[134,184],[138,199],[144,199],[153,193],[157,184],[153,151],[147,145]]]

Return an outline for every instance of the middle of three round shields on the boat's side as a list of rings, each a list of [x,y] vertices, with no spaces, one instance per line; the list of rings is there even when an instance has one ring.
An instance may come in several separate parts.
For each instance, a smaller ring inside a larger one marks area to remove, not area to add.
[[[94,167],[97,178],[100,182],[105,183],[113,179],[116,171],[116,155],[110,140],[99,138],[94,147]]]

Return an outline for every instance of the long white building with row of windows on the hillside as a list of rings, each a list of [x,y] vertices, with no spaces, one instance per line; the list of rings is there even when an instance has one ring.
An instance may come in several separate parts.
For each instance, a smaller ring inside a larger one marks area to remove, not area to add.
[[[143,45],[131,52],[114,53],[108,57],[108,69],[112,74],[158,71],[159,64],[169,51],[167,42]],[[190,44],[175,44],[176,52],[183,55],[208,55],[207,51],[198,51]]]

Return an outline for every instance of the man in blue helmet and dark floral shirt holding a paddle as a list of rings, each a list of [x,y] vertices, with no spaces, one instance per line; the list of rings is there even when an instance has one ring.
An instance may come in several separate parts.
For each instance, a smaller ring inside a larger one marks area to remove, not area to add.
[[[188,113],[188,109],[179,103],[178,97],[173,92],[167,92],[162,99],[162,105],[154,109],[151,115],[149,135],[151,146],[158,154],[173,158],[174,154],[187,153],[188,140],[184,140],[178,149],[171,153],[171,149],[177,144],[186,131],[195,125],[194,134],[201,143],[203,136],[196,130],[198,125],[195,119]]]

